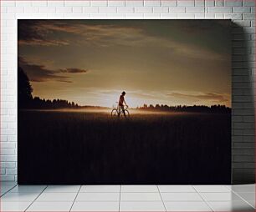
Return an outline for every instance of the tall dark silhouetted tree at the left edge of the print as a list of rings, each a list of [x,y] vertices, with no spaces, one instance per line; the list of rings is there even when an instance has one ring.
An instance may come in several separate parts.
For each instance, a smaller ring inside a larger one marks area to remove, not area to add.
[[[18,67],[18,105],[19,108],[29,107],[31,103],[33,88],[29,83],[29,79],[23,68]]]

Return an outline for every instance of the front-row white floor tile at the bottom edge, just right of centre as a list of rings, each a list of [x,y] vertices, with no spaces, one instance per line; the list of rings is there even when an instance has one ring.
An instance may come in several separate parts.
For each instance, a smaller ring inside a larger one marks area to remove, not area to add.
[[[166,211],[162,202],[120,202],[120,211]]]

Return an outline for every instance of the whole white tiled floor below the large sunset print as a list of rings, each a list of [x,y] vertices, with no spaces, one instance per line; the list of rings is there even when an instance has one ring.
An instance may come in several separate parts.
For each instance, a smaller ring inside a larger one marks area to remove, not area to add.
[[[18,186],[1,182],[0,211],[254,210],[255,184]]]

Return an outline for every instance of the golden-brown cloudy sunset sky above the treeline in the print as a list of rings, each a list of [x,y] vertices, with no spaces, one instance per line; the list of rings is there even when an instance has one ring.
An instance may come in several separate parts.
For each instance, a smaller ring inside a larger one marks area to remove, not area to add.
[[[230,107],[230,36],[227,20],[18,20],[18,64],[40,98]]]

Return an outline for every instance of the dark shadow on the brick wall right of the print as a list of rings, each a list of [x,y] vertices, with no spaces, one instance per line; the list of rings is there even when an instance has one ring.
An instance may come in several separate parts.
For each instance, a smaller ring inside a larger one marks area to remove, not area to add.
[[[232,183],[255,182],[253,33],[232,25]]]

